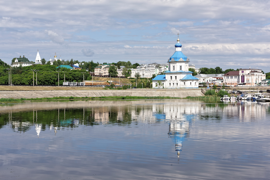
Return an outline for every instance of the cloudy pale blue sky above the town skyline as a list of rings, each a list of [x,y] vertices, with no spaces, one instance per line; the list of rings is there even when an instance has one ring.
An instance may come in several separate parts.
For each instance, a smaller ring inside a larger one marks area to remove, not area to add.
[[[270,1],[0,1],[0,59],[167,63],[270,72]]]

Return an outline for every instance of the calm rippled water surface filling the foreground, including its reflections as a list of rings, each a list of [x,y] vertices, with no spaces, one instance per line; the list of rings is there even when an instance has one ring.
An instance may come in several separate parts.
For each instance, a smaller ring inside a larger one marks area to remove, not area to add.
[[[269,103],[0,105],[0,179],[269,179]]]

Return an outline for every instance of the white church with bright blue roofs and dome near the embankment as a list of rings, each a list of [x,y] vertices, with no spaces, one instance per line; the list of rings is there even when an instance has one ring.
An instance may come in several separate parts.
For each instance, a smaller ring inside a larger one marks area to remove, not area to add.
[[[198,88],[199,79],[188,70],[189,59],[182,53],[179,38],[175,44],[175,52],[168,59],[169,70],[165,75],[157,75],[152,79],[153,88]]]

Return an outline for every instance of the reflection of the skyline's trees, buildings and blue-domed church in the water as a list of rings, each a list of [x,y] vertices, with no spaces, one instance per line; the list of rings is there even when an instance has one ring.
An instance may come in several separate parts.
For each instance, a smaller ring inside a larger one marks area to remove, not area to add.
[[[95,102],[100,103],[100,105],[96,106]],[[123,102],[126,104],[113,104]],[[122,102],[91,101],[91,104],[82,103],[72,108],[68,104],[69,102],[65,103],[50,110],[42,110],[41,107],[44,107],[46,102],[41,102],[40,108],[35,105],[31,109],[24,109],[23,112],[20,110],[15,111],[16,105],[10,106],[11,108],[5,112],[0,110],[0,130],[4,126],[10,126],[16,132],[25,132],[35,128],[36,137],[41,137],[42,131],[46,129],[54,130],[55,135],[57,135],[58,131],[65,128],[76,128],[79,125],[167,123],[169,127],[168,136],[175,143],[175,150],[179,157],[180,151],[184,147],[184,141],[190,135],[193,122],[211,119],[215,121],[255,121],[258,117],[265,118],[266,110],[270,105],[269,103],[258,104],[256,102],[207,104],[199,101],[183,100],[140,100]]]

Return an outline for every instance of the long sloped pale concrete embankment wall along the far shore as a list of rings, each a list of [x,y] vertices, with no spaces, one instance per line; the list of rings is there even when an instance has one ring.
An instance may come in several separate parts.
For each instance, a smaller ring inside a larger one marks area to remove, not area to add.
[[[0,98],[52,98],[52,97],[101,97],[101,96],[204,96],[201,89],[127,89],[127,90],[24,90],[0,91]]]

